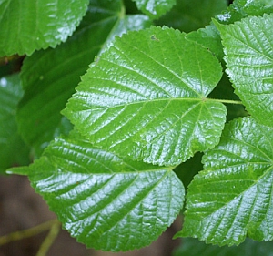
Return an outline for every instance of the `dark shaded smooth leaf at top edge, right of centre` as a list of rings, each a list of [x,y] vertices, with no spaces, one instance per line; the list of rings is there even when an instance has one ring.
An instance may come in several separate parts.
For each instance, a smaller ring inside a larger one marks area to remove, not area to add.
[[[177,0],[177,5],[167,15],[157,20],[157,25],[190,32],[207,26],[211,22],[211,17],[226,8],[227,0]]]

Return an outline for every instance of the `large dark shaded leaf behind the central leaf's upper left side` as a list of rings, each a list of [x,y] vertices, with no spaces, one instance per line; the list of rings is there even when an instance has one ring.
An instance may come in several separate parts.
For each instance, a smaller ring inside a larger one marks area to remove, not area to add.
[[[80,76],[106,43],[115,35],[136,29],[135,24],[138,28],[149,25],[147,16],[119,18],[121,12],[119,0],[111,4],[92,0],[81,25],[65,44],[25,58],[21,74],[25,96],[17,119],[22,137],[37,155],[50,140],[69,128],[60,111],[75,91]]]

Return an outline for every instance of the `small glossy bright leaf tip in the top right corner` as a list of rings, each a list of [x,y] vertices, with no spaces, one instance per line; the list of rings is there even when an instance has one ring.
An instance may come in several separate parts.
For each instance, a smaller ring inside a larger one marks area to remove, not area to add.
[[[272,0],[235,0],[226,11],[217,15],[217,21],[222,24],[232,24],[244,17],[261,16],[272,12]]]

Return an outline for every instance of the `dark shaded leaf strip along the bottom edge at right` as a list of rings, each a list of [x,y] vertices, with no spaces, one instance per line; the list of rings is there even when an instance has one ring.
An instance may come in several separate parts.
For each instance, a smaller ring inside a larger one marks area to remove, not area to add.
[[[206,244],[197,239],[185,238],[181,246],[172,254],[173,256],[272,256],[273,242],[252,241],[247,239],[238,246],[219,247],[217,245]]]

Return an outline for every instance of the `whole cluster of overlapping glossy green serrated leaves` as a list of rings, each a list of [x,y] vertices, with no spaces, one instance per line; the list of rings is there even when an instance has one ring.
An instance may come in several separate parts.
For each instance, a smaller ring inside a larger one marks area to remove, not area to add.
[[[0,3],[1,60],[26,55],[0,74],[0,171],[87,247],[147,246],[182,210],[176,237],[272,248],[271,1],[26,2]]]

